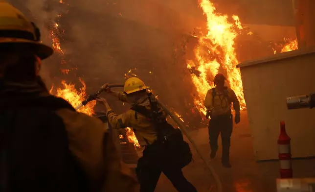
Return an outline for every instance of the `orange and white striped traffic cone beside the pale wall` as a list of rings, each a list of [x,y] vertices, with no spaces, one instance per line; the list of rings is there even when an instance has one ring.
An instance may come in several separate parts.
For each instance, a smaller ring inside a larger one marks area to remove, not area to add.
[[[279,162],[280,162],[280,177],[292,178],[292,163],[291,163],[291,138],[287,135],[286,124],[280,122],[280,135],[278,139],[279,147]]]

